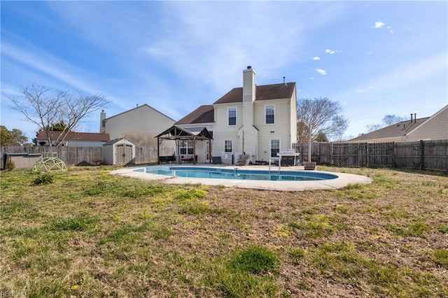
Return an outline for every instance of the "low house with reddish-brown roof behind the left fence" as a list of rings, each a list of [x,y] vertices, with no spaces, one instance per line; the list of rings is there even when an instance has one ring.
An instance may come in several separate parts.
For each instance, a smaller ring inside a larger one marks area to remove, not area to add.
[[[62,132],[50,132],[51,139],[56,141]],[[98,132],[69,132],[59,146],[69,147],[99,147],[110,141],[109,134]],[[47,135],[39,132],[36,138],[37,146],[48,146]]]

